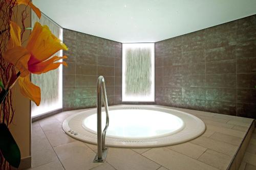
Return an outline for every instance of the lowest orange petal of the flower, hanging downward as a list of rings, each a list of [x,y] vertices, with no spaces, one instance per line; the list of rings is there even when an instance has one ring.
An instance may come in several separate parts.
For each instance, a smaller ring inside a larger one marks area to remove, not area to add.
[[[39,106],[41,101],[41,90],[40,87],[34,85],[29,80],[29,75],[18,79],[20,92],[31,101],[35,102],[36,106]]]

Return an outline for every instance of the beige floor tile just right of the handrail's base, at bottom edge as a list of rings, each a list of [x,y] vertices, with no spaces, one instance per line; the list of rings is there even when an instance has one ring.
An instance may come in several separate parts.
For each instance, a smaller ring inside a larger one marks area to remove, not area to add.
[[[159,164],[141,156],[131,149],[109,148],[106,161],[120,170],[155,170],[160,167]]]

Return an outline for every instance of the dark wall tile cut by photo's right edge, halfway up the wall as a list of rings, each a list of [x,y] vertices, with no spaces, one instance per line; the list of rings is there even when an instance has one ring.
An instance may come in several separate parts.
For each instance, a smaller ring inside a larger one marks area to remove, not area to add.
[[[256,72],[256,57],[237,60],[238,73]]]

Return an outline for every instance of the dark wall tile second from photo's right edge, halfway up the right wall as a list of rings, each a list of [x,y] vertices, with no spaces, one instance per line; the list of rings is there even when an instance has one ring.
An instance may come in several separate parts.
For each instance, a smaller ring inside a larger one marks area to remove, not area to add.
[[[236,74],[236,60],[207,62],[206,74]]]

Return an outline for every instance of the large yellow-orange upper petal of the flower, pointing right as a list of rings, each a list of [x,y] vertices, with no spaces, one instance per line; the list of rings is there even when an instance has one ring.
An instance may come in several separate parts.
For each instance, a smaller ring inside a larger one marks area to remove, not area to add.
[[[45,61],[59,50],[68,50],[68,48],[51,33],[47,26],[41,26],[36,22],[28,40],[27,50],[38,61]]]

